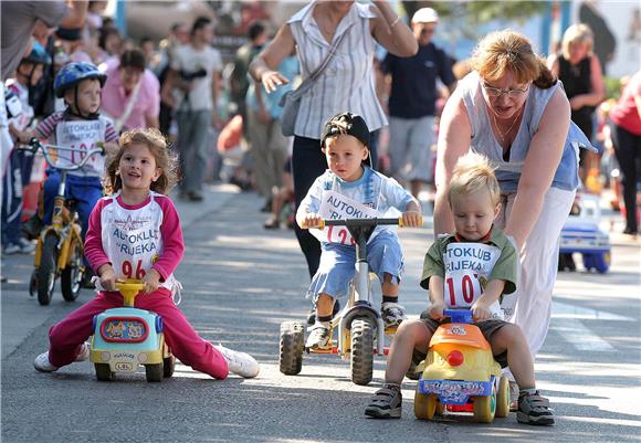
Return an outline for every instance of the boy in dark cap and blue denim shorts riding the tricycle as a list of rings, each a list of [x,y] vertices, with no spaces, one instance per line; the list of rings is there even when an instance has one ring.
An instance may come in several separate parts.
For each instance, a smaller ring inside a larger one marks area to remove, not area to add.
[[[371,169],[369,129],[359,115],[341,113],[323,128],[320,149],[328,170],[316,179],[296,212],[302,228],[315,228],[322,219],[378,218],[391,208],[401,211],[407,226],[421,223],[417,199],[396,180]],[[347,295],[354,277],[356,247],[345,228],[312,230],[320,240],[320,265],[307,289],[316,305],[316,321],[309,328],[306,347],[328,349],[332,341],[329,323],[336,298]],[[381,317],[386,328],[404,319],[404,308],[398,304],[403,256],[399,239],[388,226],[378,226],[368,242],[371,271],[382,285]]]

